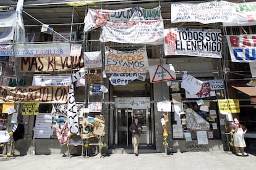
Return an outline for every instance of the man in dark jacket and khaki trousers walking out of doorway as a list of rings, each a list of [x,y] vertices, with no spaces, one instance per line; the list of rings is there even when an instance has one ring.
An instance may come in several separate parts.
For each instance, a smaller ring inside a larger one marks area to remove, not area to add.
[[[134,118],[134,123],[130,124],[129,131],[132,132],[132,144],[134,144],[134,154],[139,155],[138,146],[140,142],[140,132],[142,131],[142,125],[139,123],[138,118]]]

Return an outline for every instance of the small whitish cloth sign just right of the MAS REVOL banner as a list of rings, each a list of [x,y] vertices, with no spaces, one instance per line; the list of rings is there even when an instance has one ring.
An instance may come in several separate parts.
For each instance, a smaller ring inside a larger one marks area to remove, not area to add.
[[[101,51],[83,52],[85,68],[102,67]]]

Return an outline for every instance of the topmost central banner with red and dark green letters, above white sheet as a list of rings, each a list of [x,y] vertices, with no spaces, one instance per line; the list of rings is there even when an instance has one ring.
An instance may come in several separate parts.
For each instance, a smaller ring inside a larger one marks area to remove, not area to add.
[[[128,22],[137,20],[161,20],[160,6],[153,9],[129,7],[125,9],[88,9],[83,31],[98,28],[106,22]]]

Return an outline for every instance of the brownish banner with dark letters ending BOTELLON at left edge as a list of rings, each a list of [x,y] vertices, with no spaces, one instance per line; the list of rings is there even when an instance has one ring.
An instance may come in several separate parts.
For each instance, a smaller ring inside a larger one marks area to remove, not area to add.
[[[69,86],[0,86],[0,102],[66,103]]]

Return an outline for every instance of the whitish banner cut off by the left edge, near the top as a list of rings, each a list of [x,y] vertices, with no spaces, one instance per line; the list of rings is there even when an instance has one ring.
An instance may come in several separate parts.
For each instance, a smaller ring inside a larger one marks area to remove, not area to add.
[[[14,39],[16,17],[15,11],[0,12],[0,43]]]

